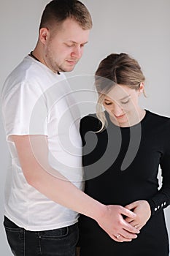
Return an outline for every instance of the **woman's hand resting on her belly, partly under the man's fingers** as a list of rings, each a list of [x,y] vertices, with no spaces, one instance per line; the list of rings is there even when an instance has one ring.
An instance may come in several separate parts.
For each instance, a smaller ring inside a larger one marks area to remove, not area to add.
[[[128,210],[131,210],[136,214],[136,218],[125,218],[125,221],[131,223],[134,227],[139,230],[144,227],[147,221],[150,219],[151,211],[150,205],[145,200],[135,201],[130,203],[128,206],[125,206]]]

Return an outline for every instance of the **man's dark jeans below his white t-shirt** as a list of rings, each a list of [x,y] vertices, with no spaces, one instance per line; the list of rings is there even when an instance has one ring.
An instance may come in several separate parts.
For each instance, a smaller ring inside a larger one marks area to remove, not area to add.
[[[4,217],[7,241],[15,256],[75,256],[77,223],[55,230],[28,231]]]

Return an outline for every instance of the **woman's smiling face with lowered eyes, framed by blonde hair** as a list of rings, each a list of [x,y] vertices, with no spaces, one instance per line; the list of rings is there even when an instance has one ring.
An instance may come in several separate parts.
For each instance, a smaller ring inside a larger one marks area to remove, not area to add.
[[[137,90],[116,85],[105,95],[103,105],[114,124],[128,127],[141,120],[143,110],[139,107],[139,95],[143,89],[143,83]]]

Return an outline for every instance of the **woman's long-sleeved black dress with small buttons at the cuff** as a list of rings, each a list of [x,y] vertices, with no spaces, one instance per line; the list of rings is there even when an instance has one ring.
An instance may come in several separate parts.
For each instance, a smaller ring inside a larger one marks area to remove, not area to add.
[[[168,256],[163,208],[170,203],[170,118],[147,110],[139,124],[122,128],[105,114],[108,126],[102,132],[96,133],[101,123],[95,114],[81,120],[85,192],[106,205],[147,200],[152,216],[138,238],[118,243],[93,219],[81,215],[80,256]]]

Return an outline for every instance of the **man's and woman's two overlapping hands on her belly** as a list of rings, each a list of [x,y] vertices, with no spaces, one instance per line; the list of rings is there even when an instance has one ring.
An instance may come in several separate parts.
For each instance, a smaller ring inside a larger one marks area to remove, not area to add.
[[[150,205],[139,200],[128,206],[107,206],[102,219],[98,220],[107,234],[117,242],[131,241],[137,238],[139,230],[150,219]]]

